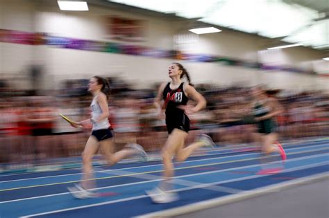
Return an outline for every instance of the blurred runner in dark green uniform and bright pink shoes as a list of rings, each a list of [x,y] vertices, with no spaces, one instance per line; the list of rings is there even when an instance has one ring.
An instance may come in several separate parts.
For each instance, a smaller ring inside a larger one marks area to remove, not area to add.
[[[275,118],[282,112],[282,107],[278,100],[269,98],[260,87],[253,88],[253,115],[257,122],[258,134],[256,137],[262,143],[262,152],[265,155],[278,152],[285,161],[286,155],[280,143],[278,143],[278,133],[276,132]],[[269,174],[279,172],[279,168],[263,169],[259,174]]]

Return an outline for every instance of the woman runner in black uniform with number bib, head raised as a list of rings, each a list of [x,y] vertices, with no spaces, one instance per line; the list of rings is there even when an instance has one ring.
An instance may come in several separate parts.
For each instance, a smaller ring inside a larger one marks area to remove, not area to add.
[[[189,84],[185,84],[181,79],[186,77]],[[154,203],[168,203],[178,199],[178,196],[171,190],[171,177],[174,176],[174,165],[171,158],[176,156],[177,161],[185,161],[192,152],[203,146],[213,146],[211,138],[201,134],[196,142],[184,147],[185,138],[189,131],[189,118],[187,115],[195,113],[205,108],[205,98],[194,89],[190,84],[189,74],[186,69],[178,63],[169,66],[169,78],[171,82],[163,83],[158,90],[158,96],[155,98],[155,107],[158,114],[165,109],[166,125],[169,137],[162,149],[162,163],[164,166],[164,180],[160,182],[158,188],[147,191]],[[187,101],[192,98],[195,106],[187,106]],[[161,100],[165,100],[161,107]]]

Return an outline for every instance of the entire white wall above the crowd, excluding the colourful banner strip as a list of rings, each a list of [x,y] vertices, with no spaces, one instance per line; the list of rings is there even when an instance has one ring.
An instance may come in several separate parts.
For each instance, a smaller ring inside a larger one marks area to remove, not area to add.
[[[119,15],[145,21],[146,41],[133,44],[167,50],[177,46],[174,44],[174,35],[187,33],[181,31],[184,28],[184,22],[132,15],[130,12],[119,12],[96,6],[90,6],[88,12],[62,12],[54,3],[35,5],[31,2],[33,1],[0,1],[0,28],[106,41],[108,39],[103,17]],[[224,30],[221,33],[200,35],[197,41],[185,44],[182,48],[183,51],[189,53],[233,57],[267,64],[288,64],[305,69],[314,69],[314,60],[319,60],[322,55],[321,52],[309,48],[258,52],[264,49],[264,40],[253,35]],[[174,61],[50,46],[0,43],[0,48],[1,72],[17,73],[26,70],[26,67],[31,64],[42,64],[46,73],[44,87],[51,88],[57,88],[60,80],[90,78],[92,75],[120,75],[127,80],[135,80],[139,87],[146,87],[151,82],[169,80],[167,68]],[[195,83],[212,82],[223,85],[262,83],[269,84],[270,87],[289,89],[310,87],[329,89],[328,78],[320,79],[298,73],[264,72],[244,67],[223,66],[219,63],[182,63],[191,73],[192,82]]]

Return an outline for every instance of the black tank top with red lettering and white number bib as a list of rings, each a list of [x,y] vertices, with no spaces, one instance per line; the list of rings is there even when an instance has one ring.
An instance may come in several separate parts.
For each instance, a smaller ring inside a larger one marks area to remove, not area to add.
[[[184,82],[182,82],[177,89],[170,89],[170,82],[168,82],[163,90],[163,99],[165,100],[165,104],[167,104],[167,107],[165,107],[167,118],[183,116],[184,111],[177,107],[179,105],[187,105],[187,101],[189,100],[187,96],[185,96],[183,85]]]

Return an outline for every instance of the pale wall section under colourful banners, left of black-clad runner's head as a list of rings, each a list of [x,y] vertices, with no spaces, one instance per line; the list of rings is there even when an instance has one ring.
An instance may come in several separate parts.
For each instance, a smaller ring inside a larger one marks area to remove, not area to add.
[[[57,80],[112,75],[135,81],[137,87],[167,80],[167,69],[173,60],[51,48],[47,72]]]

